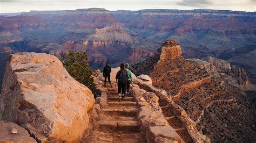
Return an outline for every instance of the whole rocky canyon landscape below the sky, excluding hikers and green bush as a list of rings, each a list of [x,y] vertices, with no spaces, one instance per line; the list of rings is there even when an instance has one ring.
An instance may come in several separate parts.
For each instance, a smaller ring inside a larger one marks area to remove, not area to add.
[[[256,12],[0,15],[0,142],[256,141]],[[59,61],[69,49],[86,51],[92,69],[131,63],[132,97],[118,102],[99,70],[93,95]]]

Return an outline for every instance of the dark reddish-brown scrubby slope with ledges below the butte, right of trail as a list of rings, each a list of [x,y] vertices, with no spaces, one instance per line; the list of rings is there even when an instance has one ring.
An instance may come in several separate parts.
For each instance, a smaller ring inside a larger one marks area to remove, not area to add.
[[[236,74],[234,77],[242,77],[245,74],[242,73],[242,69],[232,70],[231,67],[229,70],[230,66],[217,68],[218,65],[228,64],[218,63],[214,66],[213,63],[196,59],[171,60],[172,56],[160,60],[159,55],[143,63],[137,63],[135,67],[140,67],[140,71],[137,72],[149,73],[154,87],[164,89],[169,98],[180,105],[196,122],[201,133],[206,134],[213,142],[256,140],[255,126],[252,126],[256,114],[253,107],[254,97],[226,84],[224,77],[221,76],[224,71],[228,71],[231,75],[241,71],[241,74]],[[220,69],[224,71],[220,73]],[[159,105],[166,106],[161,101]]]

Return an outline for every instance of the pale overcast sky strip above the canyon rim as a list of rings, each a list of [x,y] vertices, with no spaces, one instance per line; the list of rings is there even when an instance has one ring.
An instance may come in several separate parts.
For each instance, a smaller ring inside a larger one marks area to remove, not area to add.
[[[256,0],[0,0],[0,13],[30,10],[218,9],[256,11]]]

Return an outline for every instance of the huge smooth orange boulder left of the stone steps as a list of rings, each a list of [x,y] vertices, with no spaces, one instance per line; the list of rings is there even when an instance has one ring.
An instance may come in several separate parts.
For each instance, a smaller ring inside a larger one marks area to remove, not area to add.
[[[1,120],[30,123],[48,138],[78,141],[94,103],[92,92],[74,80],[55,56],[9,56],[0,96]]]

